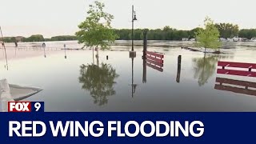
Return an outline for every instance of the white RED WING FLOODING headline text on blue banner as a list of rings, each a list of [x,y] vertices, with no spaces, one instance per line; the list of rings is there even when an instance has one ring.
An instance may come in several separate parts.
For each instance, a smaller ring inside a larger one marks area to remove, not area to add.
[[[41,121],[10,121],[9,137],[42,137],[46,129],[50,127],[53,137],[101,137],[104,134],[104,124],[100,121],[80,123],[78,121],[58,121],[49,123]],[[204,125],[200,121],[136,121],[107,122],[108,137],[136,137],[141,134],[144,137],[201,137],[204,133]]]

